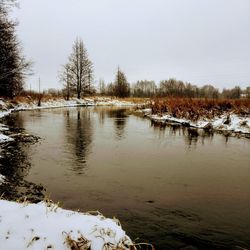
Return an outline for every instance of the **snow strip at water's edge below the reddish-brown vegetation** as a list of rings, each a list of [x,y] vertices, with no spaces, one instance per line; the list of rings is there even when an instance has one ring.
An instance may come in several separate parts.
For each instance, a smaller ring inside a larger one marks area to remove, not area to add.
[[[217,131],[228,131],[250,135],[250,116],[241,117],[231,113],[224,114],[213,119],[204,118],[194,122],[187,119],[176,118],[169,114],[155,115],[152,114],[151,109],[142,109],[138,110],[138,112],[142,112],[146,117],[154,121],[164,123],[179,123],[194,128],[213,129]]]

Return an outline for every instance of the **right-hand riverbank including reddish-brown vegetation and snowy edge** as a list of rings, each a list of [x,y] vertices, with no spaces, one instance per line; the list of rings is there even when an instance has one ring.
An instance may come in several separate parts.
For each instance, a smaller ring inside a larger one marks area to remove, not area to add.
[[[156,123],[250,138],[250,100],[157,99],[137,112]]]

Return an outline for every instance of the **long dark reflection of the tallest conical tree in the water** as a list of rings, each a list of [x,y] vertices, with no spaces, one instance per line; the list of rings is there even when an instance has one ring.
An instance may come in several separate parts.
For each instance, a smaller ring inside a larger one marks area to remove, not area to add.
[[[72,114],[73,113],[73,114]],[[87,166],[87,157],[91,152],[91,143],[93,135],[93,124],[89,109],[77,109],[76,112],[66,111],[66,140],[74,157],[72,170],[77,174],[82,174]]]

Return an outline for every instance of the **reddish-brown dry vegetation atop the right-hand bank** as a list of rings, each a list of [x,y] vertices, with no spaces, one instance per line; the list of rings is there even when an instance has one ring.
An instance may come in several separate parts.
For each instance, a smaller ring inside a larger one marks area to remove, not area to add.
[[[156,98],[151,101],[153,114],[168,113],[176,118],[192,121],[220,116],[224,113],[250,115],[249,99],[198,99],[198,98]]]

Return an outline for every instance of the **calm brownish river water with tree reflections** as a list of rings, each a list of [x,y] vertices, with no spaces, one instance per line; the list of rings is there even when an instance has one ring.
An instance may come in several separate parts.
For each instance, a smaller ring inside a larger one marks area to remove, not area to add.
[[[197,136],[119,108],[19,112],[42,140],[24,179],[63,207],[120,219],[156,249],[250,249],[250,140]]]

